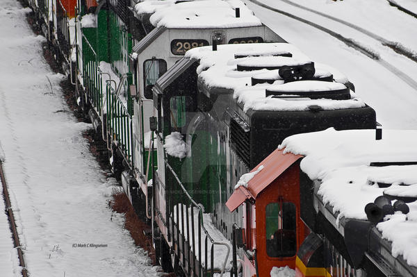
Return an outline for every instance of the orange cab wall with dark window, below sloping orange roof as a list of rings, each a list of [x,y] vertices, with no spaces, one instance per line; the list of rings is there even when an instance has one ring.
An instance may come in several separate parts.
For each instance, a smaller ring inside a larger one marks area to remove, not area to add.
[[[295,269],[295,258],[304,235],[300,219],[299,171],[293,166],[256,198],[256,248],[259,276],[269,276],[272,267]]]

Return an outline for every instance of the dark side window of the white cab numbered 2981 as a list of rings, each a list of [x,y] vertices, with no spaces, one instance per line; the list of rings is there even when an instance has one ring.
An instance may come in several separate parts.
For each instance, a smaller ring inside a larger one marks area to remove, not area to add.
[[[167,62],[161,59],[145,60],[143,62],[143,87],[146,99],[152,99],[152,87],[162,74],[167,72]]]

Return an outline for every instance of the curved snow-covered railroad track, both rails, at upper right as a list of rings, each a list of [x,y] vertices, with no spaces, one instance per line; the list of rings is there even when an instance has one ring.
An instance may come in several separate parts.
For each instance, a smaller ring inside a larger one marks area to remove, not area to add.
[[[302,17],[298,17],[297,15],[293,15],[290,12],[286,12],[285,10],[279,10],[279,9],[271,7],[271,6],[269,6],[265,3],[261,3],[258,0],[247,0],[247,1],[250,1],[254,4],[256,4],[258,6],[261,6],[263,8],[266,8],[268,10],[272,10],[273,12],[278,12],[281,15],[291,17],[292,19],[295,19],[299,22],[303,22],[305,24],[308,24],[309,26],[317,28],[320,31],[323,31],[323,32],[325,32],[329,35],[332,35],[332,37],[335,37],[337,40],[340,40],[341,42],[345,43],[348,47],[352,47],[353,49],[363,53],[364,55],[366,55],[369,58],[378,62],[379,65],[382,65],[382,67],[384,67],[385,69],[388,69],[395,76],[398,76],[398,78],[400,78],[402,81],[404,81],[404,83],[407,83],[407,85],[412,87],[417,92],[417,81],[415,81],[414,78],[411,78],[407,73],[403,72],[401,69],[398,69],[397,67],[392,65],[390,62],[387,62],[386,60],[382,59],[381,56],[379,56],[379,54],[377,53],[377,51],[374,51],[373,49],[370,49],[370,47],[368,47],[366,45],[363,45],[360,42],[357,42],[355,40],[352,40],[351,38],[344,37],[343,35],[341,35],[339,33],[336,33],[334,31],[330,30],[329,28],[326,28],[324,26],[321,26],[319,24],[311,22],[311,21],[309,21],[307,19],[304,19]],[[332,20],[334,20],[336,22],[339,22],[341,24],[345,24],[346,26],[349,26],[350,28],[354,28],[355,30],[357,30],[357,31],[359,31],[359,32],[361,32],[365,35],[368,35],[369,37],[372,37],[373,39],[381,42],[384,46],[393,49],[395,52],[399,53],[400,55],[405,56],[405,57],[413,60],[414,62],[417,62],[417,54],[414,53],[413,51],[409,51],[405,47],[402,47],[402,45],[398,44],[397,42],[389,42],[389,40],[384,39],[384,37],[380,37],[379,35],[371,33],[370,31],[367,31],[367,30],[365,30],[365,29],[363,29],[359,26],[356,26],[354,24],[350,24],[349,22],[345,22],[342,19],[338,19],[338,18],[332,17],[330,15],[325,15],[322,12],[318,12],[316,10],[311,10],[310,8],[305,8],[303,6],[300,6],[296,3],[293,3],[293,2],[288,1],[288,0],[281,0],[281,1],[284,1],[285,3],[291,4],[292,6],[296,6],[297,8],[302,8],[304,10],[309,10],[310,12],[314,12],[318,15],[322,15],[323,17],[326,17],[328,19],[332,19]],[[395,47],[395,45],[397,45],[397,46]]]

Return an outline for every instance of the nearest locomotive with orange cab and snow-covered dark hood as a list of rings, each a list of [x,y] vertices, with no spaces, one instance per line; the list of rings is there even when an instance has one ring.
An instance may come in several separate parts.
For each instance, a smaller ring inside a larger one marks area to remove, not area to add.
[[[244,206],[238,245],[262,261],[244,255],[245,270],[266,276],[294,262],[295,276],[416,276],[415,232],[407,231],[415,224],[415,136],[329,128],[284,140],[226,204]]]

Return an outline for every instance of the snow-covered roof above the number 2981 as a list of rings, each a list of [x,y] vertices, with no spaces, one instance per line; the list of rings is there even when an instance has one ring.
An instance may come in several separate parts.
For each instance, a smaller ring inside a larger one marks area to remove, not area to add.
[[[177,2],[177,3],[176,3]],[[235,8],[240,8],[236,17]],[[261,20],[240,0],[143,1],[137,14],[153,13],[150,22],[165,28],[238,28],[261,26]]]

